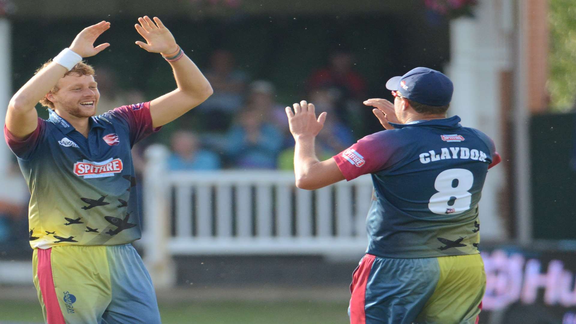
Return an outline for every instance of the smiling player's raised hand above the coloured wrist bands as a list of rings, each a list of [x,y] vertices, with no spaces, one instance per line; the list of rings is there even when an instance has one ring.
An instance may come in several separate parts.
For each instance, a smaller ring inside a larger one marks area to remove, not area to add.
[[[146,51],[153,53],[172,54],[178,50],[178,45],[172,33],[168,28],[164,27],[162,21],[158,17],[154,17],[152,21],[148,16],[138,18],[140,24],[135,24],[136,31],[144,37],[146,43],[140,42],[136,44]],[[156,22],[156,24],[154,24]]]

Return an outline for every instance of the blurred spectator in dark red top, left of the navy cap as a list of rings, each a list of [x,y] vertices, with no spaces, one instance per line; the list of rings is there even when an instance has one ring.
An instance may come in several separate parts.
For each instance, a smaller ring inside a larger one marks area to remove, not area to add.
[[[339,92],[335,110],[340,120],[356,130],[364,129],[366,109],[362,102],[366,97],[366,80],[354,71],[354,56],[350,51],[339,48],[328,58],[328,66],[313,72],[308,78],[308,88],[334,88]],[[313,101],[312,101],[313,102]]]

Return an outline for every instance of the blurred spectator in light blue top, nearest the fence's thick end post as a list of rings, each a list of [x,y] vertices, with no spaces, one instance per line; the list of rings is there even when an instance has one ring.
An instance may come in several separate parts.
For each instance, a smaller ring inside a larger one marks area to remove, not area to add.
[[[168,158],[170,170],[215,170],[221,167],[220,157],[200,147],[196,134],[187,130],[176,131],[170,140],[172,154]]]

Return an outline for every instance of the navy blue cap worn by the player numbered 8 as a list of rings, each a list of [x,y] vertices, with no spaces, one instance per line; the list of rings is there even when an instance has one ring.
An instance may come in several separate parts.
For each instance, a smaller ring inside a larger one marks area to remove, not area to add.
[[[452,100],[454,85],[448,77],[427,67],[416,67],[401,77],[386,82],[386,89],[428,106],[447,106]]]

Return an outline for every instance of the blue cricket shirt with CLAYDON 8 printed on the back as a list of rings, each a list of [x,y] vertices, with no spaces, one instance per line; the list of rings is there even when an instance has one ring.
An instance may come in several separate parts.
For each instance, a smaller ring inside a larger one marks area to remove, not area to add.
[[[501,157],[460,117],[394,124],[334,156],[346,180],[372,174],[366,253],[386,258],[478,254],[478,202]]]

